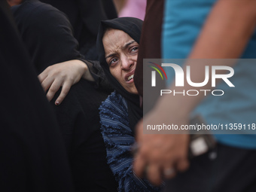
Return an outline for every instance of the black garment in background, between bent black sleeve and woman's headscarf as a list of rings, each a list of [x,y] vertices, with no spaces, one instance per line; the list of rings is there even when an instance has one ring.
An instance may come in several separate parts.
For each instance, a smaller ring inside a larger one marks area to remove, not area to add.
[[[112,0],[41,0],[67,14],[86,59],[98,59],[96,37],[101,20],[117,17]]]

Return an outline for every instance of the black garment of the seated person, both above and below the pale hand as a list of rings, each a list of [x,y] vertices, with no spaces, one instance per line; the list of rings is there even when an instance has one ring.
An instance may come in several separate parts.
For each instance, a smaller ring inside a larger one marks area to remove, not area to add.
[[[12,9],[38,73],[53,63],[83,58],[65,14],[36,0]],[[51,102],[69,152],[76,191],[117,190],[99,130],[98,108],[110,92],[96,90],[94,83],[81,80],[72,86],[61,105],[54,105],[59,93]]]

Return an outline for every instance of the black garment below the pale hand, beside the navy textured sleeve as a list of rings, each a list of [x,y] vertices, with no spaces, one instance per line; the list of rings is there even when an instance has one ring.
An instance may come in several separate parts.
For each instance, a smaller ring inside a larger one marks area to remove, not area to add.
[[[51,102],[69,153],[75,191],[117,191],[99,130],[98,108],[107,96],[105,91],[95,90],[93,84],[81,80],[72,86],[61,105]]]

